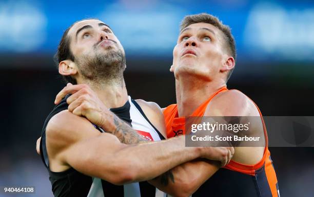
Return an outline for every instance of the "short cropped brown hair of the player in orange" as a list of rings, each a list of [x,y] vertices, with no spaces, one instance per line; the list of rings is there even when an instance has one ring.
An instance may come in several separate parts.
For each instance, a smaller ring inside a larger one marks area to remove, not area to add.
[[[235,61],[235,59],[237,57],[237,52],[235,50],[235,41],[234,41],[234,38],[231,34],[231,30],[230,30],[229,26],[224,25],[222,23],[222,21],[219,20],[218,17],[215,17],[215,16],[207,14],[207,13],[201,13],[201,14],[194,14],[194,15],[185,16],[181,22],[181,25],[180,25],[180,32],[184,28],[188,27],[191,24],[195,24],[195,23],[208,23],[208,24],[213,25],[214,27],[218,28],[219,30],[221,30],[223,33],[223,37],[225,39],[226,49],[227,49],[229,55],[231,55]],[[230,78],[233,69],[231,69],[228,72],[226,81],[228,81],[228,79]]]

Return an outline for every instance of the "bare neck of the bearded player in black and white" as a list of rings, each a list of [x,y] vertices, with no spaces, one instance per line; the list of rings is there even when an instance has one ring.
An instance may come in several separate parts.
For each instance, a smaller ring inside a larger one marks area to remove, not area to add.
[[[124,79],[119,81],[82,81],[80,83],[88,84],[97,94],[98,98],[108,107],[116,108],[123,106],[128,100]]]

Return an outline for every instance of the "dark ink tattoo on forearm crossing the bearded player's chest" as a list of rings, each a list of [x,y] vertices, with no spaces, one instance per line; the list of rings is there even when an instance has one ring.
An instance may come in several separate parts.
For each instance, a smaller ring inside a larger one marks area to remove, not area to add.
[[[114,116],[113,122],[116,129],[112,134],[115,135],[120,142],[124,144],[139,144],[147,142],[141,135],[139,135],[132,127],[120,118]]]

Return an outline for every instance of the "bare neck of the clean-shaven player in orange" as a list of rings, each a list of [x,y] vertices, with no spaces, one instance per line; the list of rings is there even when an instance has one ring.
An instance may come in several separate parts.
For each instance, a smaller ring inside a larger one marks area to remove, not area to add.
[[[196,77],[176,79],[175,93],[179,117],[192,115],[214,92],[225,85],[224,80],[204,81]]]

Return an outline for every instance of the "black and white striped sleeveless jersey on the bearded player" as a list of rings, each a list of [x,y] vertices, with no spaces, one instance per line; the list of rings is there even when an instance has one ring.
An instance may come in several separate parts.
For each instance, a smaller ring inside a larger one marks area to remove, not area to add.
[[[42,160],[49,172],[49,180],[52,185],[54,196],[88,196],[88,197],[142,197],[155,196],[164,197],[166,194],[148,182],[130,183],[125,185],[113,185],[99,178],[89,177],[76,171],[74,168],[62,172],[53,172],[49,169],[49,160],[46,149],[46,126],[49,120],[57,113],[67,110],[67,95],[60,104],[56,105],[48,115],[42,130],[41,152]],[[128,97],[128,101],[122,107],[111,108],[111,112],[120,119],[127,122],[134,130],[147,140],[159,141],[164,139],[160,132],[151,124],[145,116],[142,108],[135,100]],[[100,132],[105,132],[102,128],[94,125]],[[105,150],[104,150],[105,151]],[[83,156],[84,157],[84,156]],[[143,156],[144,157],[144,156]],[[88,166],[87,166],[88,167]]]

